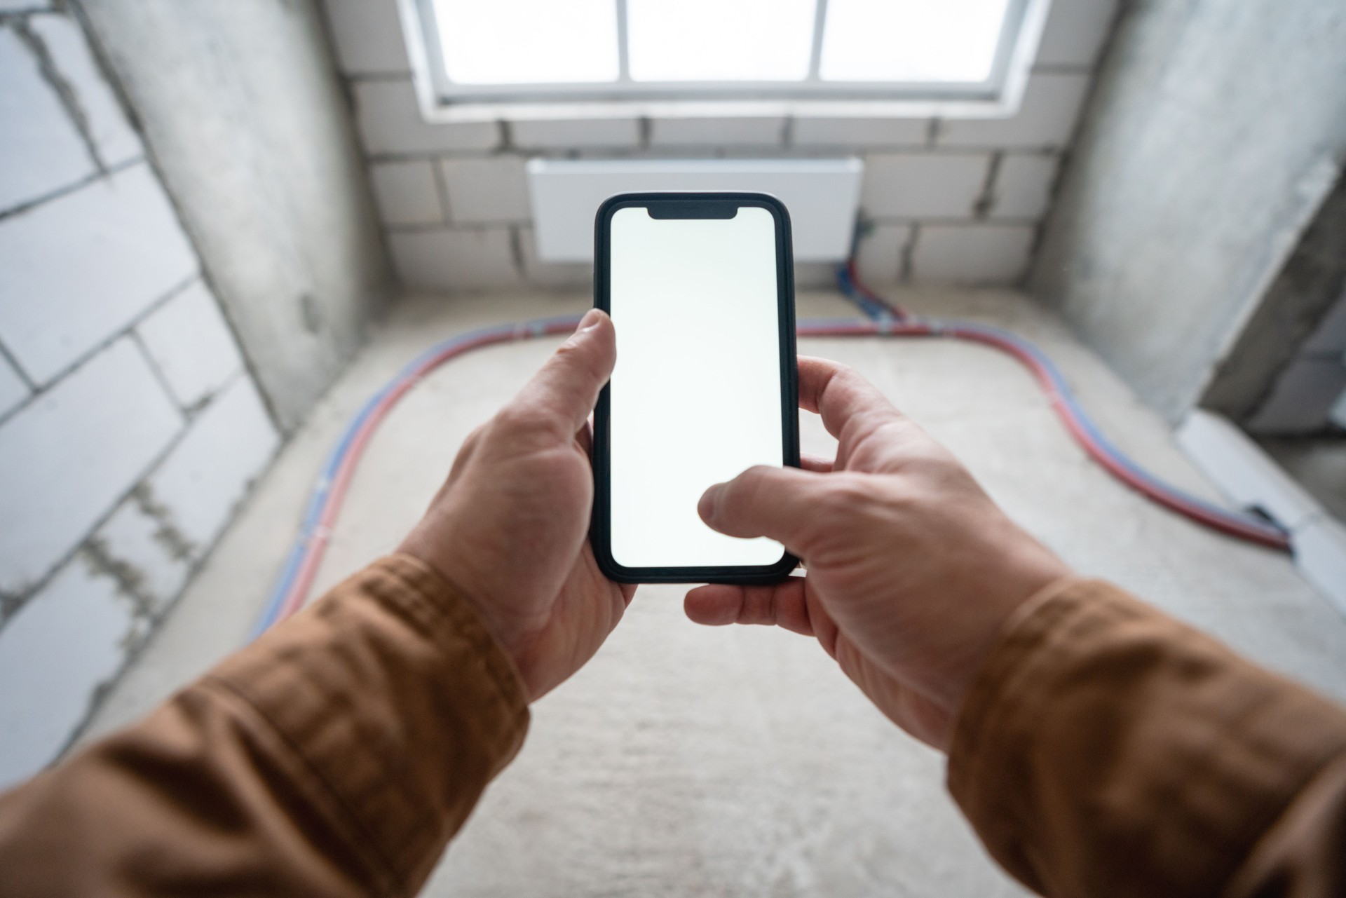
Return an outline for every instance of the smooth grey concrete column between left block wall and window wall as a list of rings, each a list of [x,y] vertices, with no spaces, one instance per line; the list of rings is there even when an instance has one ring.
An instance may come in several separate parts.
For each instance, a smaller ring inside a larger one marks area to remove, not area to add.
[[[318,0],[78,4],[289,432],[392,280]]]

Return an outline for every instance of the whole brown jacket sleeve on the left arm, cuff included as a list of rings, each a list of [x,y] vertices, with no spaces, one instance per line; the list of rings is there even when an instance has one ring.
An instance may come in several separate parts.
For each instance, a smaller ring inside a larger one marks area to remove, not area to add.
[[[472,609],[392,556],[0,796],[0,894],[415,894],[526,727]]]

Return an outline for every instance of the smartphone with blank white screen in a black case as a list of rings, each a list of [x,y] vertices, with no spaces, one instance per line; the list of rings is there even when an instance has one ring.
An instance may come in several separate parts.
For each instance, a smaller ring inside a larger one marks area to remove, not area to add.
[[[594,412],[591,541],[618,583],[770,583],[798,559],[696,512],[712,483],[800,464],[790,214],[751,193],[619,194],[594,226],[616,368]]]

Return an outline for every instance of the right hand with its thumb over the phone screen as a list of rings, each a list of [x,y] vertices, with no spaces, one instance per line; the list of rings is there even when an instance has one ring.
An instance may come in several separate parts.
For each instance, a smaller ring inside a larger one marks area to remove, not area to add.
[[[898,726],[948,749],[1005,621],[1070,568],[849,368],[801,357],[800,407],[837,438],[836,460],[748,469],[708,489],[700,513],[721,533],[783,543],[806,575],[703,586],[686,614],[817,637]]]

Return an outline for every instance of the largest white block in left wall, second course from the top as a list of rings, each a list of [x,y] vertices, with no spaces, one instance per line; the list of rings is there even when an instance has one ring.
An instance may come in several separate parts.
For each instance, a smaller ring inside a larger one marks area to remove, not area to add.
[[[0,339],[38,384],[197,273],[145,164],[0,221]]]

